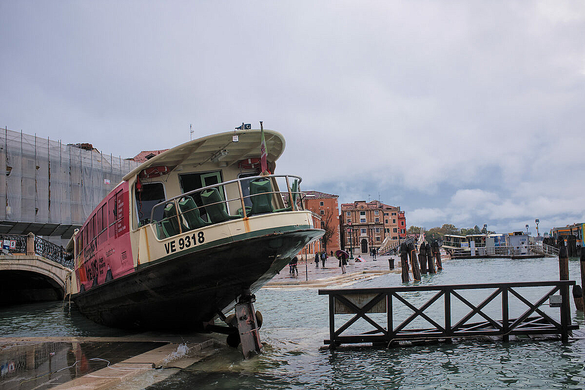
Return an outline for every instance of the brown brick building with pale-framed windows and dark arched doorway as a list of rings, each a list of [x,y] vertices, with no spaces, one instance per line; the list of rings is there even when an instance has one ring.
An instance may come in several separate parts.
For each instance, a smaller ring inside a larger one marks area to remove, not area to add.
[[[406,236],[404,211],[380,201],[342,203],[339,220],[342,246],[353,253],[379,249],[386,237],[397,243]]]

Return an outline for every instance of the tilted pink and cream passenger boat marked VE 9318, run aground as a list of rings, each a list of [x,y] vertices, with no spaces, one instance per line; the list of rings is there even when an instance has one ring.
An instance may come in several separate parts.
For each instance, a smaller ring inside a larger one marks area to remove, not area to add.
[[[271,130],[230,131],[129,172],[68,245],[80,311],[108,326],[199,329],[257,291],[324,233],[302,209],[301,178],[271,173],[284,146]]]

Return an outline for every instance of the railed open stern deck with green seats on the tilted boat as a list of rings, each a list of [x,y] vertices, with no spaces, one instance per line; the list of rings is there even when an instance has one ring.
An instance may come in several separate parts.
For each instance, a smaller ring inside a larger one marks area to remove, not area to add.
[[[276,189],[281,188],[277,181],[281,181],[283,189],[286,187],[285,191],[274,190],[275,184]],[[300,191],[301,181],[295,175],[258,175],[208,185],[157,203],[152,208],[149,222],[155,225],[159,239],[166,239],[228,220],[302,210],[305,194]],[[254,190],[251,189],[253,183],[257,184]],[[236,191],[233,188],[227,191],[233,186]],[[237,197],[224,199],[225,194],[234,192]],[[274,204],[278,206],[280,203],[278,198],[283,201],[284,208],[274,208]],[[238,208],[236,214],[230,214],[235,208]]]

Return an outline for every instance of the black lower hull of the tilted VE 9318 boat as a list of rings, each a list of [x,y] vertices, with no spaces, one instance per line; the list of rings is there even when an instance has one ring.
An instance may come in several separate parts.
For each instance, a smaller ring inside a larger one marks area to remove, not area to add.
[[[244,289],[257,291],[319,229],[273,233],[209,247],[116,278],[73,296],[81,313],[106,326],[199,329],[233,308]]]

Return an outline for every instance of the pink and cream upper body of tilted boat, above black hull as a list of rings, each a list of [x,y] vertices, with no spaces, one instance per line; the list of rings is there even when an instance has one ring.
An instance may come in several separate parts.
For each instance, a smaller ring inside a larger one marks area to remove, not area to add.
[[[214,134],[126,174],[74,234],[74,250],[70,243],[80,291],[198,244],[275,224],[312,229],[310,212],[265,218],[302,211],[301,178],[272,174],[285,146],[272,130],[264,130],[267,172],[261,172],[260,138],[260,130]]]

